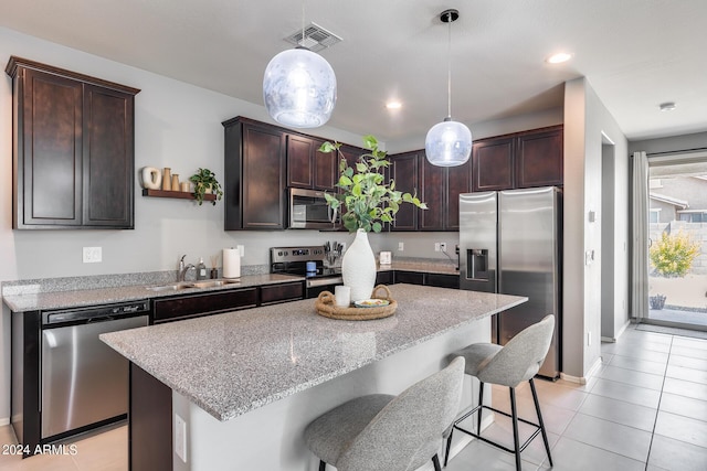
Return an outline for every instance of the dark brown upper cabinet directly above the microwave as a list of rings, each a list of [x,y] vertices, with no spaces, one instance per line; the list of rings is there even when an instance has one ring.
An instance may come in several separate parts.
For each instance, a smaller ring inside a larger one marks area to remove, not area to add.
[[[335,152],[320,152],[324,141],[287,135],[287,186],[333,191],[338,165]]]

